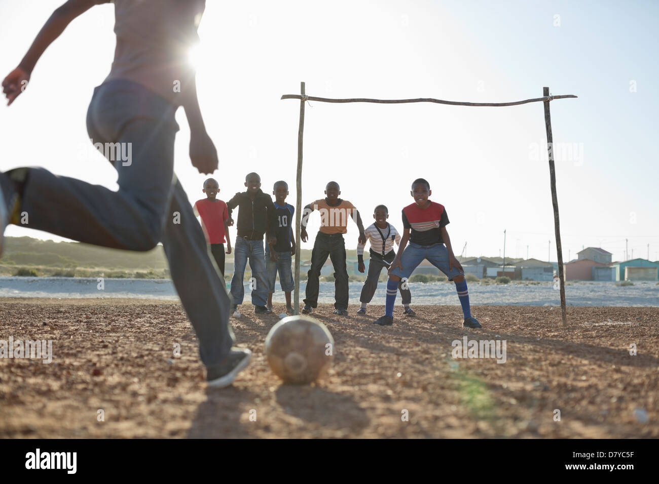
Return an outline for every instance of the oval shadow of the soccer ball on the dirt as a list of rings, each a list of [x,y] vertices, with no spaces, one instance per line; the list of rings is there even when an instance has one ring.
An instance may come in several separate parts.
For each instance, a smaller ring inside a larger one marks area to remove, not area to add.
[[[281,409],[289,415],[324,427],[341,429],[350,425],[351,431],[368,427],[366,410],[354,398],[336,394],[320,387],[281,385],[275,395]]]

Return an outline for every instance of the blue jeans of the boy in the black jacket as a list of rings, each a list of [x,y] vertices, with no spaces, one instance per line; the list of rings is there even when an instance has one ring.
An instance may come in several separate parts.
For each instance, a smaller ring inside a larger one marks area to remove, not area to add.
[[[268,302],[268,281],[266,279],[266,259],[263,252],[263,240],[245,240],[236,237],[233,247],[233,277],[231,278],[231,302],[243,304],[245,288],[243,278],[249,260],[252,269],[252,304],[266,306]]]

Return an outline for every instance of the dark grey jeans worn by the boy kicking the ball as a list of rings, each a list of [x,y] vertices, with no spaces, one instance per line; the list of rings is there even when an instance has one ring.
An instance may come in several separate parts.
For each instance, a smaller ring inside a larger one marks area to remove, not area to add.
[[[173,172],[175,111],[163,97],[128,80],[98,86],[87,131],[117,170],[119,191],[30,169],[21,210],[28,212],[30,229],[87,244],[145,251],[162,242],[172,281],[199,338],[201,360],[212,366],[234,343],[229,296]]]

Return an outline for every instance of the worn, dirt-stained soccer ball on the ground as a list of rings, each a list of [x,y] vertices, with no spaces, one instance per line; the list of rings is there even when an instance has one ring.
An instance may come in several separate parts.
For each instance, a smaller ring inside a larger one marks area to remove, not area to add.
[[[316,319],[298,315],[281,319],[266,336],[272,371],[286,383],[304,385],[322,378],[334,358],[334,338]]]

